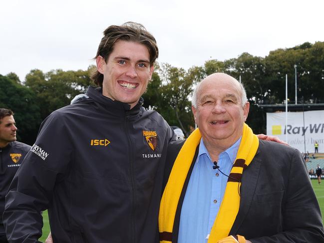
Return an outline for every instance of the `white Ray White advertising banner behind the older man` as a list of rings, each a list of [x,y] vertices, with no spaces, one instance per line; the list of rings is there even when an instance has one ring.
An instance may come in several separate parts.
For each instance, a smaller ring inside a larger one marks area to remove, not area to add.
[[[299,151],[315,152],[314,143],[319,143],[319,153],[324,153],[324,110],[305,111],[305,126],[303,112],[288,112],[286,129],[286,112],[267,113],[267,134],[278,136]],[[287,141],[286,141],[287,142]]]

